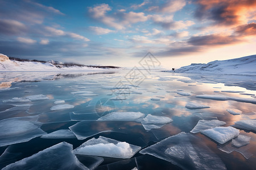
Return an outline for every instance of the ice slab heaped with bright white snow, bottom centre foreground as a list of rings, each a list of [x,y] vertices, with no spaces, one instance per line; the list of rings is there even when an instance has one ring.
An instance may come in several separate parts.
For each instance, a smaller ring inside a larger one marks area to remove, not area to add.
[[[74,152],[79,155],[128,159],[135,155],[139,150],[141,150],[140,146],[130,145],[127,142],[120,142],[100,136],[98,139],[92,138],[85,143],[82,143],[82,145],[77,147]]]

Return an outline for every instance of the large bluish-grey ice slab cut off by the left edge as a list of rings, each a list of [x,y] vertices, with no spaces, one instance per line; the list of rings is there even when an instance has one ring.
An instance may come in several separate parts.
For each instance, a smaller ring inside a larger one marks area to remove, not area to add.
[[[40,137],[46,132],[40,129],[38,116],[7,118],[0,121],[0,147],[27,142]]]

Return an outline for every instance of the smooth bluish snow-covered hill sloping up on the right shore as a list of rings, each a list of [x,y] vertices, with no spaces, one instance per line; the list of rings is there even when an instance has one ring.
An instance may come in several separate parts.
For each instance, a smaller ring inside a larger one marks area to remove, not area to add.
[[[192,63],[189,66],[180,67],[175,72],[256,75],[256,55],[216,60],[207,64]]]

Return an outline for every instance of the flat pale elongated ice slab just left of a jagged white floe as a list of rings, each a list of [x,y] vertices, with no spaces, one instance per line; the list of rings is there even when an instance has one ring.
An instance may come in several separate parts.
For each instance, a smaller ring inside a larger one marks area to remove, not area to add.
[[[98,118],[97,121],[142,121],[145,114],[141,112],[112,112]]]

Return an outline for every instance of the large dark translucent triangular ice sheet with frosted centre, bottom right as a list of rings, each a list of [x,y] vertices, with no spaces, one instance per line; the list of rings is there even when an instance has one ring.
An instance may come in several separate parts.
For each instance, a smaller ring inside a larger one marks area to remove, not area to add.
[[[194,135],[181,132],[144,148],[149,154],[183,169],[226,169],[224,163]]]

